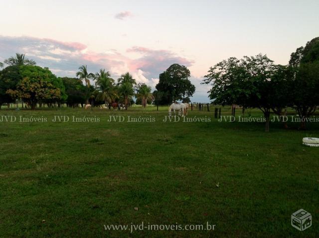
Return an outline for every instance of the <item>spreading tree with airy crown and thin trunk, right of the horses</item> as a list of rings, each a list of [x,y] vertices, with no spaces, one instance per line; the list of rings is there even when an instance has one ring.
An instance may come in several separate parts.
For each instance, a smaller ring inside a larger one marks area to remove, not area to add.
[[[238,104],[257,107],[265,117],[265,131],[269,131],[272,107],[272,78],[276,67],[266,55],[244,56],[243,59],[229,58],[211,67],[205,76],[205,84],[211,84],[210,99],[214,103]]]

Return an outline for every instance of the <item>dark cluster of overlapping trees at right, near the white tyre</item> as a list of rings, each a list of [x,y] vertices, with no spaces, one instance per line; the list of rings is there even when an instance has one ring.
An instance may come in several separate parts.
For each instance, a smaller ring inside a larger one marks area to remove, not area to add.
[[[214,104],[259,108],[265,131],[270,114],[283,116],[287,107],[296,110],[305,129],[319,105],[319,37],[297,48],[288,65],[274,64],[263,54],[231,57],[212,66],[202,83],[212,86],[208,93]]]

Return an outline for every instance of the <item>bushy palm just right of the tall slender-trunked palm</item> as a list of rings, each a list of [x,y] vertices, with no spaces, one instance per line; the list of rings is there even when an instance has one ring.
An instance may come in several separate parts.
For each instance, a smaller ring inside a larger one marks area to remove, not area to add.
[[[95,74],[97,88],[97,100],[103,100],[105,105],[111,103],[118,97],[115,81],[110,77],[109,72],[105,72],[105,69],[100,69],[100,73]]]

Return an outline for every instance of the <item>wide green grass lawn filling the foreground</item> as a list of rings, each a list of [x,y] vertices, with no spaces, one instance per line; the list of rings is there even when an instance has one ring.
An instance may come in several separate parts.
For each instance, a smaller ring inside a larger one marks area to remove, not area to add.
[[[2,108],[1,115],[49,120],[0,123],[1,238],[319,237],[319,148],[302,145],[303,137],[319,137],[318,123],[308,131],[271,123],[265,133],[263,123],[220,123],[199,111],[188,117],[211,122],[163,123],[167,107]],[[100,122],[53,123],[54,115]],[[108,122],[110,115],[156,122]],[[313,216],[304,232],[290,224],[301,208]],[[104,227],[142,222],[216,226],[133,233]]]

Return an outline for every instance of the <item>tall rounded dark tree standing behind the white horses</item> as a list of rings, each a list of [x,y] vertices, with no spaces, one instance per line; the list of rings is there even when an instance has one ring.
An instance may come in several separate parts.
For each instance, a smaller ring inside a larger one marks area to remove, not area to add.
[[[160,81],[156,85],[161,92],[160,104],[169,104],[174,100],[183,100],[191,97],[195,92],[195,86],[189,81],[190,71],[179,64],[170,65],[160,74]]]

